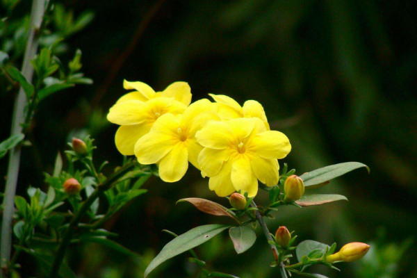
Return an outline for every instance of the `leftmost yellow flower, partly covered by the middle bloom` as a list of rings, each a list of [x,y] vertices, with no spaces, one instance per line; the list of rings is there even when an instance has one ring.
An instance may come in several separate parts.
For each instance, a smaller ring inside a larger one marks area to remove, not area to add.
[[[191,102],[191,89],[186,82],[175,82],[163,92],[155,92],[142,82],[124,81],[124,88],[136,91],[120,97],[110,108],[107,120],[119,124],[115,144],[121,154],[134,154],[134,147],[140,137],[149,132],[152,125],[165,113],[178,115]]]

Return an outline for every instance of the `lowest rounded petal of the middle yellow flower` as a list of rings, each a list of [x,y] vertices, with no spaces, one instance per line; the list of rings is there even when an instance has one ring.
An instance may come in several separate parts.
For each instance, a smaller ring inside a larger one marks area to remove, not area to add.
[[[188,169],[188,151],[183,142],[178,142],[159,163],[159,177],[163,181],[179,181]]]

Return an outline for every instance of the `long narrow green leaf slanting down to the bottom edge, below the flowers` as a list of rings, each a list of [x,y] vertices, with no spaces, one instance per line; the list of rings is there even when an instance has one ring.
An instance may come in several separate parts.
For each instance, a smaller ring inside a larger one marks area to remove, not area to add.
[[[145,270],[144,277],[146,278],[152,270],[158,265],[171,259],[178,254],[186,252],[198,245],[202,245],[220,232],[229,228],[230,226],[222,224],[208,224],[190,229],[184,234],[177,236],[163,247],[161,252],[149,263]]]

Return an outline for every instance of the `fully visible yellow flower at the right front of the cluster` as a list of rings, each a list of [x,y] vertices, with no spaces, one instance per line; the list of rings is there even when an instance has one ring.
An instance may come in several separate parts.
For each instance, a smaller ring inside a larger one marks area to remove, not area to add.
[[[235,190],[253,197],[258,179],[274,186],[279,179],[277,159],[291,151],[284,133],[267,131],[257,117],[208,122],[195,136],[204,147],[198,156],[202,175],[210,177],[208,187],[220,197]]]

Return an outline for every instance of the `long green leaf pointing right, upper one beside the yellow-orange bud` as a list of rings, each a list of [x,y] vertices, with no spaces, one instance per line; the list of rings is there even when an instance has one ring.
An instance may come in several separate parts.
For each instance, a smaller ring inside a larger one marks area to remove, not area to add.
[[[302,178],[302,180],[304,181],[304,186],[313,186],[339,177],[343,174],[346,174],[347,172],[358,169],[360,167],[366,167],[366,169],[369,172],[369,167],[363,163],[345,162],[313,170],[306,174],[302,174],[300,178]]]

